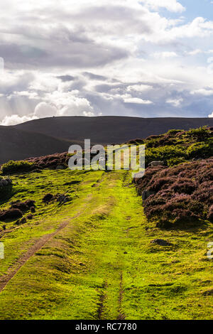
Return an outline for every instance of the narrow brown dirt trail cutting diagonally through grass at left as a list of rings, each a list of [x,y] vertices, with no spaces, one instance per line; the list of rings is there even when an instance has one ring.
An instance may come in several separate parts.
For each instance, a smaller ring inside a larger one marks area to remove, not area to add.
[[[87,200],[89,200],[90,198],[91,198],[91,195],[88,196]],[[33,244],[33,246],[30,249],[28,249],[28,251],[25,254],[23,254],[22,257],[20,257],[18,259],[16,264],[14,264],[14,266],[11,266],[9,268],[8,273],[0,278],[0,293],[1,293],[1,291],[4,290],[4,288],[7,286],[7,284],[9,284],[9,281],[17,274],[17,272],[21,269],[21,267],[24,264],[26,264],[28,259],[31,259],[31,257],[33,257],[33,255],[36,252],[38,252],[38,250],[40,250],[50,239],[55,237],[55,235],[57,235],[58,232],[60,232],[67,225],[69,225],[71,220],[74,220],[75,218],[82,215],[86,205],[87,205],[87,203],[84,204],[84,207],[82,208],[82,210],[80,212],[77,213],[77,215],[75,215],[73,217],[70,217],[70,219],[67,222],[63,222],[55,232],[50,233],[49,235],[44,235],[37,242],[35,242],[35,244]]]

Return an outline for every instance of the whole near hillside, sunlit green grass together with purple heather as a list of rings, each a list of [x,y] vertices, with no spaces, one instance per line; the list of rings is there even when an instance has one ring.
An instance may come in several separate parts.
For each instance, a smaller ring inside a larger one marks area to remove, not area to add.
[[[164,166],[134,183],[70,171],[67,153],[4,165],[0,319],[212,320],[212,134],[141,139]]]

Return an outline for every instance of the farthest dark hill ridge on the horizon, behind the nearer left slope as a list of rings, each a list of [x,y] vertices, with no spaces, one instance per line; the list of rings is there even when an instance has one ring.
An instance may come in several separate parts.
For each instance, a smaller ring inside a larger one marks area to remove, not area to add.
[[[88,138],[97,144],[119,144],[163,134],[170,129],[188,130],[204,125],[213,126],[213,118],[51,117],[18,124],[14,128],[70,141]]]

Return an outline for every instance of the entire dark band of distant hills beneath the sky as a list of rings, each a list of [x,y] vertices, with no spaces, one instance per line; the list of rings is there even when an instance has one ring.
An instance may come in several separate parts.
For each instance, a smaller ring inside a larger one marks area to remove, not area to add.
[[[0,126],[0,163],[67,151],[70,144],[120,144],[169,129],[213,126],[213,118],[50,117]]]

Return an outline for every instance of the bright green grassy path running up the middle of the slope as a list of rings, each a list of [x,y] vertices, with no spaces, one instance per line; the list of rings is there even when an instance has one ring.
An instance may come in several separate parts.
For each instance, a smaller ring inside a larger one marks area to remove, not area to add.
[[[144,217],[139,198],[133,188],[124,187],[123,178],[119,173],[110,174],[99,187],[89,229],[78,244],[78,260],[84,266],[70,277],[75,293],[70,295],[70,307],[67,309],[66,301],[56,318],[64,314],[65,318],[79,319],[126,317],[123,278],[136,271]]]

